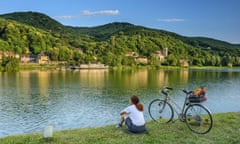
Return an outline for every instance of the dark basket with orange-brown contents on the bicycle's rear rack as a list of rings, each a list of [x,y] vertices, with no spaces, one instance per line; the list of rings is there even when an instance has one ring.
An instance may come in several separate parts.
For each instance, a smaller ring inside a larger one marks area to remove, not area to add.
[[[189,101],[191,103],[201,103],[207,100],[206,90],[204,88],[195,89],[189,96]]]

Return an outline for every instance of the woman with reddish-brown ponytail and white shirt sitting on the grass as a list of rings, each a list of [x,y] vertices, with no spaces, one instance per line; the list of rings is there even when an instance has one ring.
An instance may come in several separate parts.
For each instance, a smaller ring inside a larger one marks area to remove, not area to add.
[[[128,130],[133,133],[146,133],[145,120],[143,116],[143,105],[139,102],[137,96],[130,98],[130,106],[120,112],[121,121],[117,128],[121,128],[124,121]]]

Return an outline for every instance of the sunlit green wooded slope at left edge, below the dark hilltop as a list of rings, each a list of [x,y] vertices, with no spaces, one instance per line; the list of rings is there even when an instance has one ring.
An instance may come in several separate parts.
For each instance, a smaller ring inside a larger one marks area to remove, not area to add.
[[[71,48],[71,45],[48,31],[0,18],[0,51],[39,54],[55,47]]]

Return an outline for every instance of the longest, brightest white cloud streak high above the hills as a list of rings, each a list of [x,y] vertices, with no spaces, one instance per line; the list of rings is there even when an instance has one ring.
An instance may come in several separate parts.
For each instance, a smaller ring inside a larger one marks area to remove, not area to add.
[[[82,15],[84,16],[96,16],[96,15],[117,15],[119,14],[119,10],[101,10],[101,11],[82,11]]]

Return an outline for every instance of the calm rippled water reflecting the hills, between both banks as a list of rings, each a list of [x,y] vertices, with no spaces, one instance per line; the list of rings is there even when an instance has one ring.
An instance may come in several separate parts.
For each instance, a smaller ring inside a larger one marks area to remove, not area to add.
[[[116,124],[119,112],[138,95],[145,106],[173,87],[173,99],[183,104],[181,89],[207,89],[212,113],[240,111],[240,69],[174,69],[137,71],[20,71],[0,73],[0,137]]]

